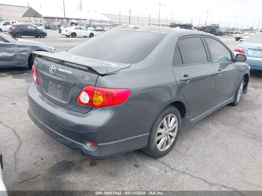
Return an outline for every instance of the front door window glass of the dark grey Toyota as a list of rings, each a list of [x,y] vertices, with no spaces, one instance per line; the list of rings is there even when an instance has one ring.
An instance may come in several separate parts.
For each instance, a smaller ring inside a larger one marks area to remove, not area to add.
[[[206,38],[206,42],[213,62],[231,61],[231,54],[223,44],[212,38]]]

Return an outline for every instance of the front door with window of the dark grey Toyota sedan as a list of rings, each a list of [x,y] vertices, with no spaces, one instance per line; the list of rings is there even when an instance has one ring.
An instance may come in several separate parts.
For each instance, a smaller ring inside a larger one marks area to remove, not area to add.
[[[238,85],[238,63],[232,52],[217,38],[204,36],[216,72],[215,92],[209,108],[228,100]]]

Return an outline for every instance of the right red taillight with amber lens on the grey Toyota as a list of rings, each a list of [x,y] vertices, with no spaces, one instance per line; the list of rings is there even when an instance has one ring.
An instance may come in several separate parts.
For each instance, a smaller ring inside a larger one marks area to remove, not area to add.
[[[115,106],[125,102],[130,93],[130,89],[85,86],[79,93],[77,102],[91,107]]]

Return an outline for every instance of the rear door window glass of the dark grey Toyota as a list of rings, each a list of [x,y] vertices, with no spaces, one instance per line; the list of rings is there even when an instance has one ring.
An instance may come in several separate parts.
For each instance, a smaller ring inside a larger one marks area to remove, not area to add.
[[[184,64],[208,62],[206,50],[200,37],[188,37],[179,41]]]

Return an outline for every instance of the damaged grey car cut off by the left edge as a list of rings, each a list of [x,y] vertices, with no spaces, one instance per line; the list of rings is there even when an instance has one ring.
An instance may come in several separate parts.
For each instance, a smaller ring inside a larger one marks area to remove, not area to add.
[[[32,51],[42,50],[55,53],[56,49],[47,44],[23,39],[13,39],[0,33],[0,68],[32,68],[34,58]]]

